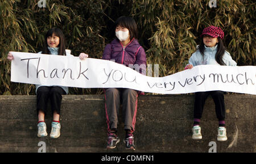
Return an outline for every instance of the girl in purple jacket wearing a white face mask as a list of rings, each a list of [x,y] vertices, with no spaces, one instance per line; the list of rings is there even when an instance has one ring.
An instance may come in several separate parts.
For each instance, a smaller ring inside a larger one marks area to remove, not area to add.
[[[146,54],[136,39],[138,29],[135,20],[130,17],[121,16],[115,22],[116,38],[104,49],[102,59],[112,60],[126,66],[137,64],[138,72],[146,74]],[[136,70],[136,68],[135,68]],[[105,89],[105,111],[108,124],[107,149],[114,149],[120,141],[117,137],[118,111],[122,103],[126,137],[126,149],[135,150],[134,129],[136,122],[138,91],[124,88]]]

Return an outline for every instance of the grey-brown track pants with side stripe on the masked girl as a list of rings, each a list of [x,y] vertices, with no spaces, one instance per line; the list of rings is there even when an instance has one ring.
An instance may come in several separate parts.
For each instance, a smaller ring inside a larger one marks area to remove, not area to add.
[[[132,89],[105,89],[105,112],[108,132],[117,129],[119,106],[122,103],[123,122],[125,130],[134,132],[138,92]]]

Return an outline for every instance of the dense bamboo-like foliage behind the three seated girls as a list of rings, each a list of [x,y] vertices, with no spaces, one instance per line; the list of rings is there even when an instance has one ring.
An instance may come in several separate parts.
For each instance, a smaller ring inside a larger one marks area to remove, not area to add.
[[[73,55],[101,58],[114,37],[114,20],[122,15],[136,20],[147,63],[159,64],[160,77],[184,69],[210,25],[222,28],[224,45],[239,66],[255,65],[255,1],[216,2],[210,8],[209,0],[46,0],[40,8],[38,0],[0,0],[0,95],[35,95],[34,85],[10,82],[9,51],[39,52],[47,30],[59,27]],[[101,93],[69,88],[69,94]]]

